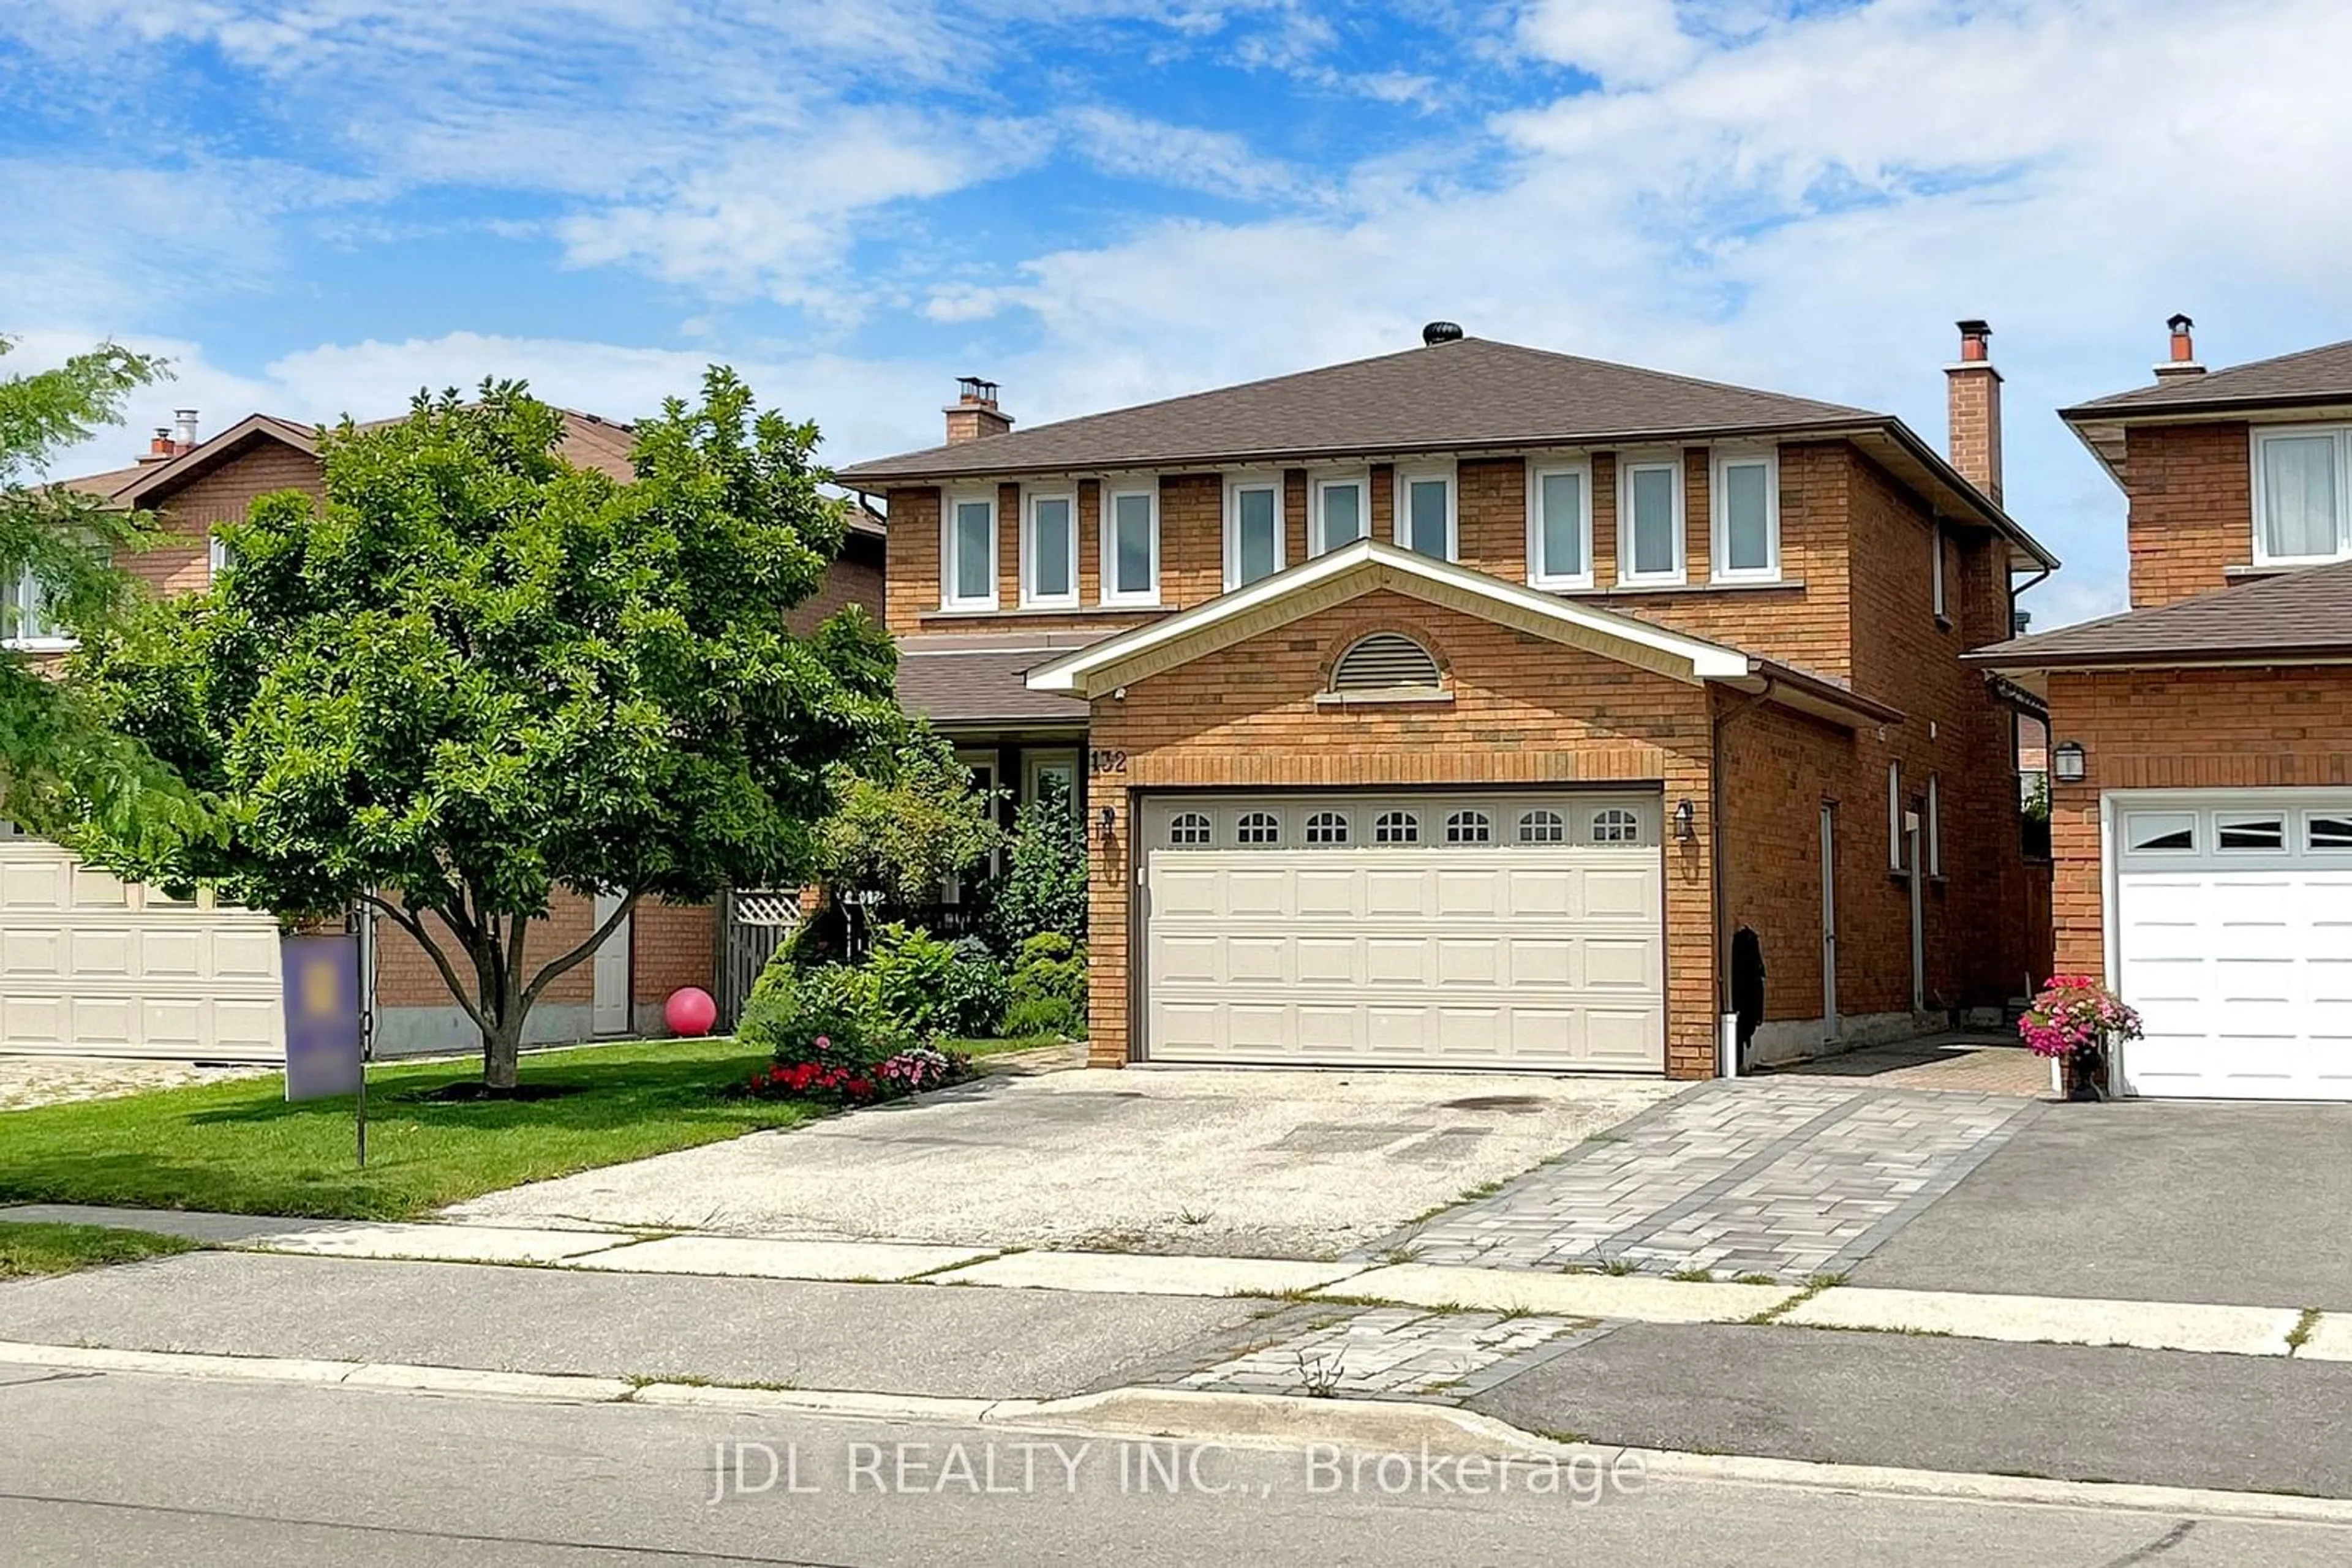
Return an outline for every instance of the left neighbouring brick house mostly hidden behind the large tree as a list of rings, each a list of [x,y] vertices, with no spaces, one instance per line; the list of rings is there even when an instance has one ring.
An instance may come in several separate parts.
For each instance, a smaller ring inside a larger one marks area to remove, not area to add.
[[[564,411],[562,454],[583,468],[628,477],[635,437],[626,423]],[[221,564],[216,524],[242,520],[254,498],[299,489],[322,494],[313,428],[254,414],[228,430],[198,440],[195,414],[155,433],[151,451],[132,468],[68,480],[113,505],[158,515],[169,538],[125,557],[125,569],[158,592],[198,592]],[[795,630],[809,630],[844,604],[882,614],[882,520],[858,510],[842,557],[826,588],[790,614]],[[33,604],[28,585],[14,585]],[[35,649],[68,646],[52,628],[28,623]],[[52,632],[52,635],[42,635]],[[28,971],[7,971],[12,1001],[0,1006],[0,1048],[66,1048],[94,1053],[273,1058],[278,1053],[275,924],[245,910],[172,907],[153,889],[122,889],[111,877],[78,870],[64,851],[16,837],[0,846],[7,867],[28,893],[26,905],[5,900],[9,936],[47,933],[59,940],[19,943],[31,954]],[[94,900],[94,903],[92,903]],[[38,912],[35,912],[38,905]],[[602,919],[595,900],[557,893],[546,933],[532,938],[539,952],[564,952]],[[160,924],[158,924],[160,922]],[[120,929],[122,940],[75,943],[80,926]],[[153,940],[160,931],[191,943]],[[442,985],[440,971],[416,943],[388,922],[372,922],[367,971],[374,980],[376,1053],[473,1051],[480,1034]],[[534,1044],[590,1039],[600,1034],[661,1032],[661,1004],[682,985],[706,990],[717,983],[720,914],[713,905],[644,900],[607,938],[604,947],[572,973],[548,985],[532,1011]],[[108,954],[92,971],[78,952]],[[162,957],[186,952],[186,961]],[[151,957],[155,954],[155,957]],[[38,997],[38,1004],[33,1001]]]

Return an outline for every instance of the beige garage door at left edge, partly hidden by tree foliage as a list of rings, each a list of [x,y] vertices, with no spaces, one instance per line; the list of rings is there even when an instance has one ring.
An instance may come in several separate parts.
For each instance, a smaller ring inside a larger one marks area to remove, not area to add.
[[[0,825],[0,1051],[282,1060],[278,922]]]

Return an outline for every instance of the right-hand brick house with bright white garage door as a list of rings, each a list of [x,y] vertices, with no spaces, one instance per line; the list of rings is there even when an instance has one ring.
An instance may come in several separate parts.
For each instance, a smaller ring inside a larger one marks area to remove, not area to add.
[[[2352,343],[2060,418],[2129,498],[2131,609],[1973,658],[2049,696],[2058,966],[2147,1095],[2352,1100]]]

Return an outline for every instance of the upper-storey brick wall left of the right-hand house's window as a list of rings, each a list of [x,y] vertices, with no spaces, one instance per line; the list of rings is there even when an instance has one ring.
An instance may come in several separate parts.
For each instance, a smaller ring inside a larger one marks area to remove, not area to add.
[[[2136,425],[2124,435],[2131,607],[2227,588],[2253,564],[2253,449],[2244,423]]]

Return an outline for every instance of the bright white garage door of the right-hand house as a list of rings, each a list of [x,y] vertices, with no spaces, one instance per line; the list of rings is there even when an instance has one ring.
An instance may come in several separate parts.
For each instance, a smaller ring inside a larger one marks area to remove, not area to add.
[[[2126,1093],[2352,1100],[2352,795],[2110,797]]]

